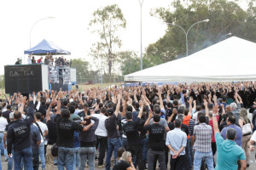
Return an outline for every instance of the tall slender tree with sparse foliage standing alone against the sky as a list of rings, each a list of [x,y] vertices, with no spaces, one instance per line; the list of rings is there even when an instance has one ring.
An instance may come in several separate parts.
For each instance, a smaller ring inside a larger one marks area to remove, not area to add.
[[[113,64],[118,59],[117,49],[121,47],[118,31],[125,28],[126,20],[116,4],[97,9],[93,17],[90,28],[100,39],[92,45],[90,54],[95,59],[102,58],[102,63],[108,65],[108,74],[111,77]]]

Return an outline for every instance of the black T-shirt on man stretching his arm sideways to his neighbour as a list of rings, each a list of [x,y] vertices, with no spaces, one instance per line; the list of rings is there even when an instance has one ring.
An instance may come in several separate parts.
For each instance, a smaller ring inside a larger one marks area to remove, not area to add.
[[[73,148],[73,132],[82,131],[83,126],[69,119],[64,119],[60,114],[55,116],[57,124],[57,145],[61,147]]]

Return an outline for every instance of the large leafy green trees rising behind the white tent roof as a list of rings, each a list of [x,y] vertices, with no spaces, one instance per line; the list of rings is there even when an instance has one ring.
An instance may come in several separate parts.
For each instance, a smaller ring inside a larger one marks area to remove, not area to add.
[[[219,42],[224,35],[230,32],[233,36],[256,42],[255,0],[248,3],[247,11],[236,2],[228,0],[188,0],[186,2],[181,3],[175,0],[171,4],[172,10],[156,8],[151,14],[166,23],[182,26],[185,31],[197,21],[210,20],[209,23],[193,26],[189,31],[189,54]],[[160,56],[163,62],[184,56],[186,54],[184,32],[177,26],[168,26],[163,37],[148,45],[146,54]]]

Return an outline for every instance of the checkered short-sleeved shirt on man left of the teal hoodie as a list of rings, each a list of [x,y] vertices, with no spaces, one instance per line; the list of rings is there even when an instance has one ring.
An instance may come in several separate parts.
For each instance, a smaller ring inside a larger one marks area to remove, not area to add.
[[[212,127],[210,125],[205,122],[195,125],[193,135],[195,136],[194,150],[199,152],[212,151]]]

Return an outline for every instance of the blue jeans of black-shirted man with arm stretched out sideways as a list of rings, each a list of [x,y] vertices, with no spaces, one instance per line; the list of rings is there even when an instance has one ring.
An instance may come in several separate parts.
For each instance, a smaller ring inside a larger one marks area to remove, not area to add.
[[[58,170],[73,170],[73,148],[58,147]]]

